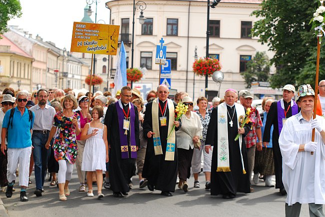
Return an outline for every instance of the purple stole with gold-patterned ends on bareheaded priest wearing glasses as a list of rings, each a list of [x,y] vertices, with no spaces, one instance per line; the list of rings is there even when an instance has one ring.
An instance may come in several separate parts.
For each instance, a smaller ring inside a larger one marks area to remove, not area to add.
[[[119,106],[119,102],[120,101],[117,101],[115,103],[115,107],[117,111],[117,120],[118,120],[118,128],[119,128],[120,150],[121,150],[122,159],[127,159],[128,158],[127,135],[124,134],[125,130],[123,129],[124,113],[123,113],[123,109]],[[130,109],[129,127],[130,127],[131,158],[135,159],[136,158],[136,144],[135,144],[135,133],[134,133],[135,112],[134,112],[133,104],[129,103],[128,107]]]

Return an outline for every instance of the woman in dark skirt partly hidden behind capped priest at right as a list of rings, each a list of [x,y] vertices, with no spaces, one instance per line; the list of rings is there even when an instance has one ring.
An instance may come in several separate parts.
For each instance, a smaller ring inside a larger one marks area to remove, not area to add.
[[[262,131],[262,138],[264,134],[265,123],[267,119],[267,113],[269,111],[269,107],[271,106],[273,99],[268,99],[265,102],[264,112],[263,112],[263,126],[261,127]],[[272,176],[274,173],[274,159],[273,159],[273,152],[272,152],[272,132],[273,126],[271,127],[270,133],[270,140],[266,147],[262,148],[262,151],[256,151],[255,154],[255,163],[254,163],[254,176],[253,182],[254,184],[258,184],[258,173],[263,175],[265,179],[265,186],[266,187],[274,187],[274,184],[271,181]]]

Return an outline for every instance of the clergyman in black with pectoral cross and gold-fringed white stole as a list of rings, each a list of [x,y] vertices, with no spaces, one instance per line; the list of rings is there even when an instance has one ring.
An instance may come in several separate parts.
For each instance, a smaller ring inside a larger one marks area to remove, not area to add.
[[[211,162],[211,195],[222,195],[231,199],[237,192],[249,193],[250,184],[247,151],[243,137],[248,133],[251,123],[240,128],[245,117],[245,109],[235,103],[237,91],[227,89],[224,103],[213,109],[207,128],[205,152],[213,146]],[[239,139],[234,141],[236,135]]]

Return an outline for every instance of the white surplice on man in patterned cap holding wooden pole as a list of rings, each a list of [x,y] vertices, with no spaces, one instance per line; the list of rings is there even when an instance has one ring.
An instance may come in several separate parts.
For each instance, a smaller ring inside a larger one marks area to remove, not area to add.
[[[325,129],[325,119],[316,116]],[[325,204],[325,145],[315,130],[316,151],[298,152],[300,144],[311,141],[311,121],[302,118],[301,112],[289,117],[279,137],[282,154],[282,181],[287,192],[285,203]]]

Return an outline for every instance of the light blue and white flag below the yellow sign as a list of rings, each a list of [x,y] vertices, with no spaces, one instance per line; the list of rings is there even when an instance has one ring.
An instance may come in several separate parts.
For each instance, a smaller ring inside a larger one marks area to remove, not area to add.
[[[115,96],[116,92],[120,90],[123,86],[127,85],[126,81],[126,51],[124,48],[123,41],[119,49],[119,56],[117,58],[116,72],[114,76],[114,88],[112,91],[112,96]]]

